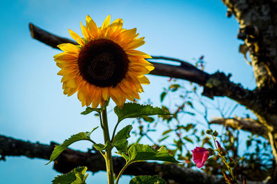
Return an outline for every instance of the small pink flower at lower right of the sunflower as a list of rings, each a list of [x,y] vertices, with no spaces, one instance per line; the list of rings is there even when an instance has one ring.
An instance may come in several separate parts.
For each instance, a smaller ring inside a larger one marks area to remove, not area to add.
[[[193,151],[193,161],[195,161],[198,168],[203,167],[204,163],[210,156],[210,151],[204,147],[195,147]]]

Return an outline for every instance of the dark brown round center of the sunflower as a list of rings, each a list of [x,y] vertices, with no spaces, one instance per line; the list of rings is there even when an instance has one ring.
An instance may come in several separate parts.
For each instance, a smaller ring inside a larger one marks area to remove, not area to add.
[[[127,73],[129,59],[123,48],[109,39],[96,39],[79,53],[80,75],[90,84],[116,86]]]

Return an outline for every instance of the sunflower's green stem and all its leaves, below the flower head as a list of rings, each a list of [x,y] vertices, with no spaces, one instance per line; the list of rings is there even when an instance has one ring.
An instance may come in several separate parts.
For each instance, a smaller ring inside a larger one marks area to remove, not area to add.
[[[141,105],[136,103],[127,103],[124,104],[123,107],[115,107],[114,112],[118,116],[118,122],[116,127],[114,127],[114,133],[109,138],[109,128],[107,122],[107,105],[109,104],[109,100],[105,102],[105,104],[100,108],[90,108],[87,107],[85,111],[81,114],[87,115],[92,111],[96,111],[98,113],[98,117],[100,118],[100,125],[103,130],[103,136],[105,139],[105,145],[101,143],[96,143],[91,140],[90,136],[91,133],[97,129],[98,127],[94,128],[90,132],[80,132],[79,134],[75,134],[71,136],[69,139],[65,140],[62,145],[57,145],[53,150],[51,155],[50,161],[55,160],[57,156],[59,156],[66,147],[69,147],[73,142],[77,142],[80,140],[89,140],[93,143],[93,147],[100,151],[100,154],[105,158],[106,168],[107,168],[107,176],[108,176],[108,183],[114,183],[114,172],[113,172],[113,165],[112,165],[112,157],[111,157],[111,150],[115,147],[117,149],[117,153],[120,156],[123,156],[126,160],[126,164],[121,169],[120,173],[116,178],[116,184],[119,181],[120,176],[123,174],[124,170],[127,168],[128,165],[136,162],[142,162],[145,160],[159,160],[159,161],[166,161],[169,163],[178,163],[175,160],[174,156],[170,155],[168,150],[165,147],[161,147],[160,149],[154,149],[149,145],[141,145],[139,143],[135,143],[133,145],[128,145],[127,138],[130,137],[130,132],[132,130],[132,125],[127,125],[120,131],[116,133],[116,128],[121,120],[125,118],[144,118],[145,120],[152,121],[152,119],[148,116],[152,115],[167,115],[169,116],[170,113],[160,109],[159,107],[152,107],[151,105]],[[87,168],[76,168],[73,171],[69,172],[68,174],[64,174],[61,176],[57,176],[53,183],[84,183],[87,175],[84,176],[85,171]],[[164,183],[164,181],[157,177],[157,176],[139,176],[133,178],[130,183]]]

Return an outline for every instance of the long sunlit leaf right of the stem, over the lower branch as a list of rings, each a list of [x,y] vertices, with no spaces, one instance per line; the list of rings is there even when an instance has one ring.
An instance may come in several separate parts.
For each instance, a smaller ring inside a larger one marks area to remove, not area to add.
[[[173,156],[168,153],[165,147],[159,150],[153,149],[149,145],[141,145],[135,143],[128,150],[128,162],[143,161],[143,160],[160,160],[170,163],[178,163]]]

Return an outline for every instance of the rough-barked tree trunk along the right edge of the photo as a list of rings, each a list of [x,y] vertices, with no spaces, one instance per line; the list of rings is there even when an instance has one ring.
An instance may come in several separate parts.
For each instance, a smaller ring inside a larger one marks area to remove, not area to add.
[[[267,129],[277,160],[277,1],[222,0],[240,24],[238,38],[249,50],[256,77],[249,109]]]

